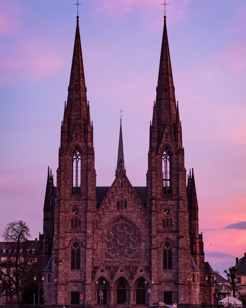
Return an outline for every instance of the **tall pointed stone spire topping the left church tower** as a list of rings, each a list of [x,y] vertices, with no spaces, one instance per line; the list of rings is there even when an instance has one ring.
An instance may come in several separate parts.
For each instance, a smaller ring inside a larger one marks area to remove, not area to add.
[[[78,16],[66,112],[69,136],[71,136],[76,124],[81,129],[81,132],[84,132],[87,114],[87,97]]]

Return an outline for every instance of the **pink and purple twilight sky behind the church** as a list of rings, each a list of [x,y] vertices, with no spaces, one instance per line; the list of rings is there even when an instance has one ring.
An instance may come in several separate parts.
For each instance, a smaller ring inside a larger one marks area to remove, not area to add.
[[[42,233],[48,165],[56,183],[75,2],[0,2],[0,229],[22,219],[32,239]],[[114,180],[121,107],[127,176],[133,186],[145,186],[163,31],[161,1],[80,2],[97,186]],[[205,261],[222,273],[246,252],[246,2],[168,3],[185,167],[194,168]]]

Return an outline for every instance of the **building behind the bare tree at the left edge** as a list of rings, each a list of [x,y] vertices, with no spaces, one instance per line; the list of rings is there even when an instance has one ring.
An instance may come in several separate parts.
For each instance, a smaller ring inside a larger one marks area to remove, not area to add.
[[[0,304],[10,304],[15,301],[15,296],[10,297],[8,290],[14,288],[15,267],[19,272],[20,285],[33,279],[37,274],[38,239],[21,243],[20,257],[16,258],[15,243],[0,242]],[[17,260],[16,260],[17,259]]]

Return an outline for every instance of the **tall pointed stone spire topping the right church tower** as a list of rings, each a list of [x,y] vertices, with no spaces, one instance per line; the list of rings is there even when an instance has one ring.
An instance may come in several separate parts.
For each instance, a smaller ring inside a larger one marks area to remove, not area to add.
[[[173,131],[172,124],[176,120],[176,103],[173,86],[173,74],[169,53],[166,16],[164,16],[164,29],[161,44],[161,58],[156,88],[156,114],[158,125],[158,140],[161,140],[165,124]],[[172,132],[171,132],[172,133]]]

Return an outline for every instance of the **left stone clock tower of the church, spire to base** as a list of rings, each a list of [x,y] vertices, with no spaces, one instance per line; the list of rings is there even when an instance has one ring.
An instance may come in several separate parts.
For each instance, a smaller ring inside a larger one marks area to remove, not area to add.
[[[87,103],[79,21],[61,127],[54,211],[51,303],[71,302],[91,284],[92,212],[96,210],[93,126]],[[89,288],[86,292],[88,298]]]

